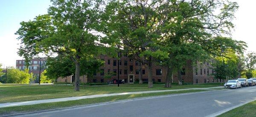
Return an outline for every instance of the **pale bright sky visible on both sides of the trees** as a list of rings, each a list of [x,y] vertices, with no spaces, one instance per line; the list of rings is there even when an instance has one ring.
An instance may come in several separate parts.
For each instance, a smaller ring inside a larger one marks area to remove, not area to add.
[[[230,0],[238,2],[236,25],[232,32],[233,39],[247,42],[247,51],[256,52],[255,11],[256,0]],[[33,20],[39,14],[47,14],[50,0],[0,0],[0,63],[15,66],[17,59],[17,36],[14,34],[20,28],[21,21]]]

